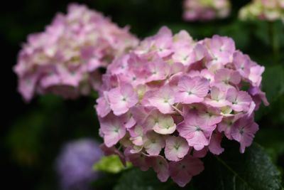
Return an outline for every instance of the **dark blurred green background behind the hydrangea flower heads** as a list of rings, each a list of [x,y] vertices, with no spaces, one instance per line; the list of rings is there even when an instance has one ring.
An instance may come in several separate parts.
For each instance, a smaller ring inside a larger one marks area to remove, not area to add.
[[[55,189],[55,157],[62,143],[79,137],[96,137],[98,122],[93,110],[94,98],[62,100],[46,95],[35,97],[29,104],[16,92],[17,78],[13,73],[21,43],[29,33],[43,31],[53,16],[66,12],[62,0],[6,1],[1,5],[1,110],[4,113],[0,127],[1,162],[7,189]],[[241,22],[237,11],[248,1],[234,1],[229,19],[188,23],[182,21],[182,1],[176,0],[89,0],[77,1],[90,9],[101,11],[119,26],[131,26],[131,32],[139,38],[149,36],[160,26],[173,31],[186,29],[197,39],[215,33],[231,36],[237,48],[249,53],[259,64],[266,65],[263,89],[271,106],[261,108],[256,120],[261,126],[256,141],[266,147],[275,164],[283,167],[284,153],[284,71],[283,24]],[[272,28],[272,29],[269,29]],[[273,35],[276,44],[272,45]],[[99,138],[97,138],[99,140]]]

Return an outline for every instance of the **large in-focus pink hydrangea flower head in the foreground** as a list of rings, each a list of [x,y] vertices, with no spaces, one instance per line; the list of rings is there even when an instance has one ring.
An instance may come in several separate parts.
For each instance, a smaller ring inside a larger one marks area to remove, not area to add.
[[[185,186],[204,169],[200,157],[224,152],[222,138],[239,142],[240,152],[251,145],[253,112],[268,105],[263,71],[231,38],[194,41],[163,27],[103,76],[96,106],[102,149]]]

